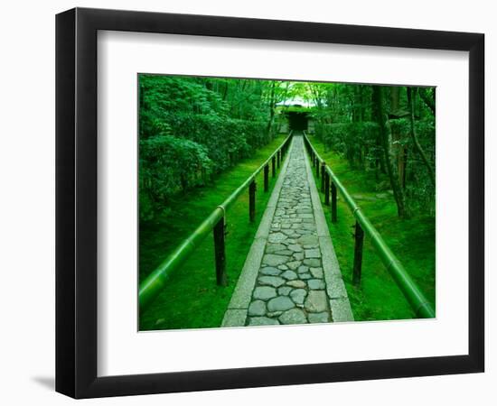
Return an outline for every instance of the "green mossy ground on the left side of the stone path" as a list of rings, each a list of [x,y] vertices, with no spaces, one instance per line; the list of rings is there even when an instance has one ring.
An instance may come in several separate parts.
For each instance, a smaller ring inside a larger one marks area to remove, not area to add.
[[[140,224],[139,273],[143,281],[211,211],[227,198],[285,139],[278,136],[234,168],[222,173],[215,184],[176,198],[154,221]],[[258,176],[256,221],[248,221],[248,190],[227,212],[226,263],[228,286],[216,285],[212,237],[173,272],[164,291],[140,314],[140,330],[216,328],[220,326],[231,294],[245,263],[277,178],[269,172],[269,191],[264,192],[263,174]]]

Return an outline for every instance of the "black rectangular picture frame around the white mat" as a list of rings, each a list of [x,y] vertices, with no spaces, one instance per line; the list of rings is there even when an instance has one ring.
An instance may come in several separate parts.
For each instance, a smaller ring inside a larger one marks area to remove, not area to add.
[[[469,51],[468,355],[97,375],[97,32]],[[56,16],[56,391],[74,398],[483,372],[484,35],[76,8]]]

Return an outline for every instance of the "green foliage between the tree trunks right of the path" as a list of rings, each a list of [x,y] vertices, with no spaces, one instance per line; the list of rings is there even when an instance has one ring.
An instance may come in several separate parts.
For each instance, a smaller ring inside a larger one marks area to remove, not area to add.
[[[410,105],[407,88],[383,87],[383,109],[388,112],[389,154],[380,142],[380,128],[376,119],[378,106],[372,100],[372,88],[366,85],[322,84],[310,85],[316,97],[314,131],[326,148],[338,152],[354,169],[374,171],[376,179],[387,173],[386,160],[392,161],[394,179],[407,201],[408,211],[422,210],[435,214],[435,185],[430,179],[427,164],[435,167],[435,115],[430,105],[435,89],[422,89],[422,97],[414,102],[414,130],[411,133]],[[414,88],[416,92],[417,89]],[[430,98],[431,97],[431,98]],[[434,106],[434,105],[433,105]],[[419,147],[428,162],[422,159]],[[397,185],[390,179],[390,189]],[[384,189],[379,185],[378,189]]]

